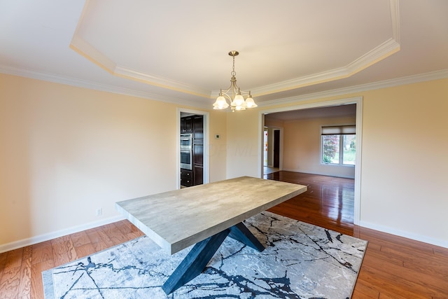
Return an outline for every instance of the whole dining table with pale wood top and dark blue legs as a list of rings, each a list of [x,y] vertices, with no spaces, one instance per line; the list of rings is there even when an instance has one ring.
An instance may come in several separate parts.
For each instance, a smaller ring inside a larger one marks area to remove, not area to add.
[[[199,275],[228,236],[262,251],[243,221],[306,190],[241,176],[116,202],[116,209],[169,254],[194,245],[163,284],[169,294]]]

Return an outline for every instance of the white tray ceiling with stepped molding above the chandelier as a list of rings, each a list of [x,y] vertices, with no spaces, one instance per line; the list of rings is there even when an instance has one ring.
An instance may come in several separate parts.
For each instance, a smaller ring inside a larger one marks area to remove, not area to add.
[[[211,107],[448,77],[447,0],[0,0],[0,72]],[[423,75],[424,74],[424,75]]]

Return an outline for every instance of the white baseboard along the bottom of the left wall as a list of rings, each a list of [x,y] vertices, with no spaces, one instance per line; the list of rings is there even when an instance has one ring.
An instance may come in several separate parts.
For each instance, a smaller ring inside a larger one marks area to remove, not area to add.
[[[55,239],[55,238],[62,237],[65,235],[70,235],[75,232],[81,232],[83,230],[90,230],[90,228],[97,228],[98,226],[117,222],[117,221],[120,221],[123,219],[125,219],[125,217],[123,217],[123,216],[113,216],[111,218],[106,218],[106,219],[102,219],[99,221],[94,221],[94,222],[90,222],[87,224],[77,225],[77,226],[73,226],[71,228],[66,228],[65,230],[57,230],[56,232],[49,232],[48,234],[38,235],[35,237],[29,237],[27,239],[21,239],[21,240],[15,241],[15,242],[7,243],[7,244],[1,244],[0,245],[0,253],[18,249],[18,248],[22,248],[22,247],[33,245],[33,244],[37,244],[37,243],[41,243],[41,242],[45,242],[50,239]]]

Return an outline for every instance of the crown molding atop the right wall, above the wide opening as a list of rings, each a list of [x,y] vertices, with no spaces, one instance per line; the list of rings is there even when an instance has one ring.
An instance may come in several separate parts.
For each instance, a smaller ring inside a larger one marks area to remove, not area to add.
[[[321,99],[325,97],[335,97],[338,95],[348,95],[356,92],[365,92],[367,90],[377,90],[381,88],[391,88],[399,85],[420,83],[425,81],[433,81],[448,78],[448,69],[442,69],[440,71],[432,71],[425,74],[417,74],[411,76],[405,76],[401,78],[394,78],[385,81],[378,81],[375,83],[368,83],[362,85],[351,86],[349,88],[337,88],[334,90],[326,90],[323,92],[314,92],[307,95],[300,95],[297,97],[285,97],[283,99],[273,99],[270,101],[259,102],[258,106],[273,106],[279,104],[293,104],[295,102],[307,101],[310,99]]]

